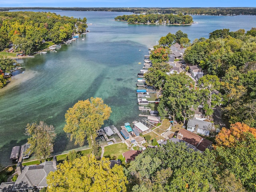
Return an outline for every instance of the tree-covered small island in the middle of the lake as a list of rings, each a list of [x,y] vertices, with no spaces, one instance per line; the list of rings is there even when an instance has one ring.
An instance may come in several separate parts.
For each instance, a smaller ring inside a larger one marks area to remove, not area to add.
[[[126,21],[130,24],[191,24],[192,16],[174,14],[140,14],[117,16],[115,20]]]

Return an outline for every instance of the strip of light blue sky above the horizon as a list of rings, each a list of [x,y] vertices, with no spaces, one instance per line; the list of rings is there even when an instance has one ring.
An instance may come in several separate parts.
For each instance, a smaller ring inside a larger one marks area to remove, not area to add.
[[[0,0],[0,7],[256,7],[255,0]]]

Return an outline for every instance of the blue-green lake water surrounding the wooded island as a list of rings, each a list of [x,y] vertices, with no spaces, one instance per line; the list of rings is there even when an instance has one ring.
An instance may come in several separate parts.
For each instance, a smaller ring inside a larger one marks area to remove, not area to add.
[[[193,16],[195,24],[191,26],[168,26],[114,21],[118,15],[130,14],[124,12],[51,12],[86,17],[90,33],[63,45],[57,52],[18,60],[27,72],[21,75],[36,75],[0,92],[0,163],[3,165],[10,164],[12,147],[26,142],[24,129],[31,122],[43,120],[56,128],[54,153],[76,148],[68,141],[63,127],[66,110],[78,100],[103,98],[113,111],[106,125],[119,128],[125,122],[137,120],[136,80],[142,69],[138,62],[143,62],[148,47],[168,32],[175,34],[182,30],[193,42],[195,38],[208,38],[217,29],[247,31],[256,27],[256,16]]]

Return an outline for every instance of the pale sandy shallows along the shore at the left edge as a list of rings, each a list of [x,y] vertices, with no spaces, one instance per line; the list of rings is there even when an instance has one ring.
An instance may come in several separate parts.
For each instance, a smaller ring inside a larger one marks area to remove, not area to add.
[[[0,96],[4,94],[4,92],[10,90],[11,88],[20,85],[21,83],[32,79],[36,76],[38,72],[32,70],[25,70],[24,73],[17,74],[12,76],[10,80],[7,81],[6,86],[0,89]]]

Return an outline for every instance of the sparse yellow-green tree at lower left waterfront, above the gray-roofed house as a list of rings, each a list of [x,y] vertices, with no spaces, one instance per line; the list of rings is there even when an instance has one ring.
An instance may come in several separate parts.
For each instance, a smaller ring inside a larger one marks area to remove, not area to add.
[[[39,124],[27,124],[25,134],[30,136],[28,143],[29,150],[34,152],[40,160],[46,159],[53,152],[53,144],[56,134],[54,126],[48,126],[45,122],[40,121]]]

